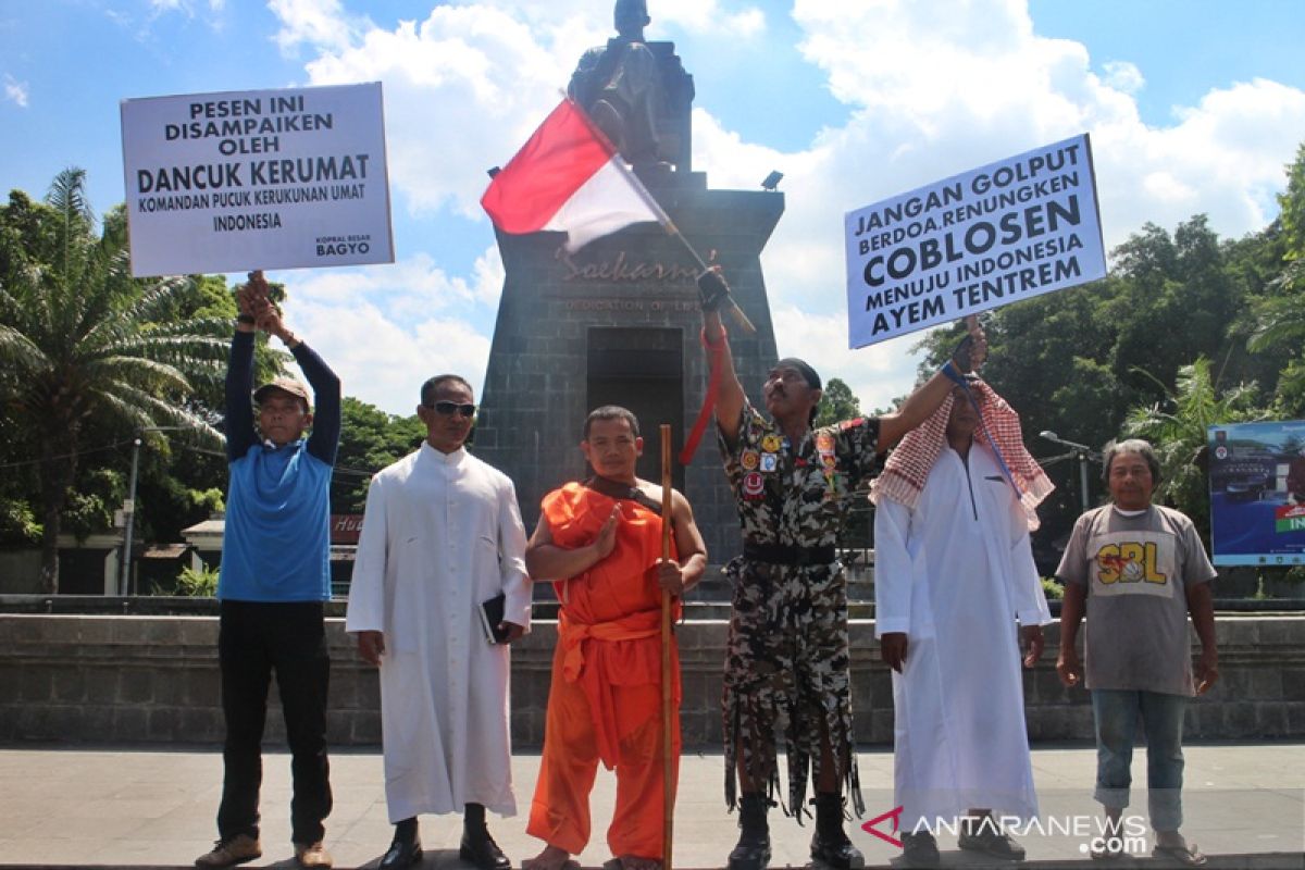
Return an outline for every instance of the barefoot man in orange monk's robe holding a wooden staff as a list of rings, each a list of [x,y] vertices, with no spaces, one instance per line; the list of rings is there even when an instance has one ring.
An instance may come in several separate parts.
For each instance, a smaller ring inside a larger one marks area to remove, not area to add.
[[[527,571],[555,582],[561,610],[544,753],[526,827],[548,845],[522,870],[560,870],[583,850],[599,762],[616,771],[607,831],[612,854],[624,870],[655,870],[664,854],[662,591],[680,596],[696,584],[706,548],[689,502],[673,492],[671,558],[662,560],[662,488],[634,473],[643,440],[633,413],[617,406],[590,413],[581,450],[595,476],[544,497],[526,548]],[[675,648],[671,656],[679,711]],[[677,773],[679,715],[672,741]]]

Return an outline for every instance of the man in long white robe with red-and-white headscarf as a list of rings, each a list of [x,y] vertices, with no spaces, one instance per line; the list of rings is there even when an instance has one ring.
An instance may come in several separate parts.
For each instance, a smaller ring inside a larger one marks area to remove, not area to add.
[[[874,484],[876,634],[894,670],[907,866],[938,866],[932,831],[957,819],[962,849],[1024,857],[993,813],[1037,815],[1019,661],[1023,644],[1034,665],[1051,622],[1028,543],[1051,490],[1018,415],[977,378],[906,436]]]

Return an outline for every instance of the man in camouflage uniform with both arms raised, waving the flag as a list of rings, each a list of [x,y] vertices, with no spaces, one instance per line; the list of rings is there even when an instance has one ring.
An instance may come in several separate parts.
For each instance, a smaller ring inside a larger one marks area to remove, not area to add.
[[[889,446],[942,404],[971,356],[983,359],[983,334],[974,326],[953,363],[897,413],[812,429],[821,398],[814,369],[799,359],[775,364],[762,387],[767,420],[733,369],[719,314],[728,300],[724,279],[706,271],[698,288],[703,343],[720,369],[720,451],[744,535],[744,554],[726,569],[733,583],[722,702],[726,801],[732,809],[739,797],[741,827],[728,866],[762,870],[770,861],[766,810],[779,787],[775,734],[783,730],[786,811],[801,818],[808,773],[814,781],[812,858],[838,870],[860,867],[865,861],[843,831],[844,784],[857,815],[864,806],[852,737],[847,582],[834,545],[848,493],[878,471]]]

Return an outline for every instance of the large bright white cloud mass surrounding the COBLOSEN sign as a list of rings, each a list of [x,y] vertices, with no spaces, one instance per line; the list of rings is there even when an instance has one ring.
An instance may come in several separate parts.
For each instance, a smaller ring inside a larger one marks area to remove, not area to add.
[[[1133,98],[1135,65],[1094,74],[1082,44],[1037,37],[1018,0],[799,0],[795,20],[847,123],[783,154],[699,110],[694,166],[727,188],[786,173],[787,210],[762,257],[779,351],[843,378],[867,408],[911,387],[921,334],[843,350],[846,211],[1087,130],[1108,247],[1147,220],[1173,227],[1195,213],[1238,236],[1271,219],[1283,164],[1305,138],[1305,93],[1263,80],[1211,90],[1173,127],[1150,128]]]

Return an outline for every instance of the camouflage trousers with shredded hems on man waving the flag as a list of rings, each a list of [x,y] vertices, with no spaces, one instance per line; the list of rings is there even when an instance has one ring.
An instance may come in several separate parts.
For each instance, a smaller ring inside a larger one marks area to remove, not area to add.
[[[801,820],[808,776],[821,779],[821,737],[857,815],[864,813],[852,737],[847,582],[839,565],[726,566],[733,612],[726,652],[726,802],[737,801],[737,754],[754,789],[779,792],[778,742],[788,757],[786,814]]]

